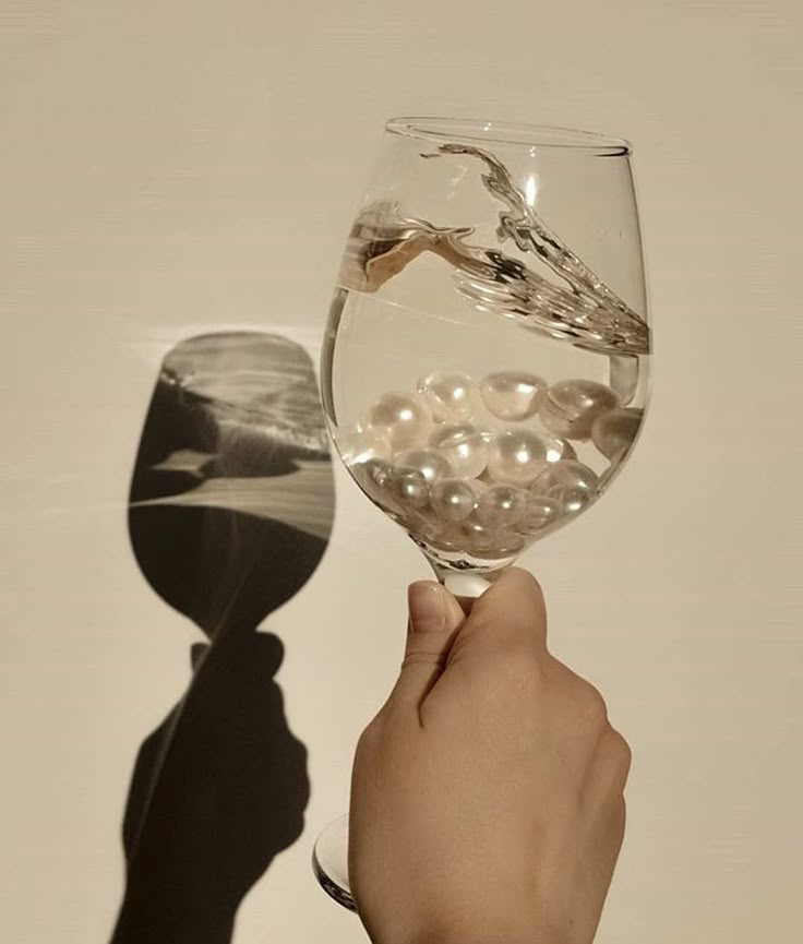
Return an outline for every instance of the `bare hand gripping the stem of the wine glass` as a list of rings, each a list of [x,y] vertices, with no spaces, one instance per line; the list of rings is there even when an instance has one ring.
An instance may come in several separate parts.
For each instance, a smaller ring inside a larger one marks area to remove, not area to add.
[[[525,571],[468,617],[434,583],[409,605],[402,672],[351,785],[349,875],[371,940],[589,944],[624,835],[626,742],[547,650]]]

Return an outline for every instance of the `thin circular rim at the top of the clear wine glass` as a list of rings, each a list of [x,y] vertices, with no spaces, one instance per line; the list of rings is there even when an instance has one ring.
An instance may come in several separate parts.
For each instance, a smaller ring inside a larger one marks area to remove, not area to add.
[[[633,153],[633,145],[624,138],[599,131],[582,131],[553,124],[527,124],[515,121],[491,121],[475,118],[438,118],[410,116],[389,118],[385,130],[391,134],[422,141],[456,143],[484,142],[494,145],[563,147],[591,151],[607,157]]]

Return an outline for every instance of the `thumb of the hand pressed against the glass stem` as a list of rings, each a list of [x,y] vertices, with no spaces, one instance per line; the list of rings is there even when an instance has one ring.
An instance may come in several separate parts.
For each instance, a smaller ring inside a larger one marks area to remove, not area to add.
[[[410,584],[407,604],[407,644],[392,698],[418,708],[445,668],[465,613],[452,594],[434,581]]]

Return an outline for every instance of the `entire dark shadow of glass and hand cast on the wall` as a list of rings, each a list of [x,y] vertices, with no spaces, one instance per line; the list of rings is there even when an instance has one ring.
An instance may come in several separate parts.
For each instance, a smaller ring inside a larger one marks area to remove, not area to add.
[[[140,750],[113,944],[228,942],[249,888],[303,829],[307,751],[262,621],[328,542],[334,483],[312,363],[285,338],[209,334],[165,358],[142,433],[131,543],[154,590],[208,637]]]

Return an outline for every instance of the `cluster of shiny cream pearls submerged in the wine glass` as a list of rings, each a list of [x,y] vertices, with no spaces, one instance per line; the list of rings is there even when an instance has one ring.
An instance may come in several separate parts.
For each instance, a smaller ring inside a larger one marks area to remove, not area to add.
[[[642,410],[609,386],[522,371],[458,371],[382,394],[337,443],[363,491],[419,540],[483,560],[513,557],[588,505],[631,447]],[[482,410],[493,420],[482,422]],[[611,467],[600,479],[571,441]]]

